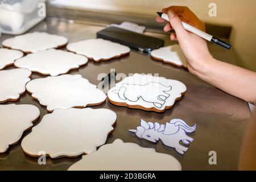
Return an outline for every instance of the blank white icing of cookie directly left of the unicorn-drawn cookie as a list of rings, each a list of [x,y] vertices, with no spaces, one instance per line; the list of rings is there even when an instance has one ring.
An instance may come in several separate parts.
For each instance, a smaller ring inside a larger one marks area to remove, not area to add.
[[[81,75],[38,78],[28,82],[26,88],[48,111],[98,105],[106,100],[106,94]]]

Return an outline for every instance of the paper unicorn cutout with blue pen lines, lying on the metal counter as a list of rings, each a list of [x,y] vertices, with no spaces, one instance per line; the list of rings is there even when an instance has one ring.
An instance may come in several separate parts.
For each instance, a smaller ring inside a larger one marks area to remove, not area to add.
[[[188,137],[186,133],[193,133],[195,130],[196,124],[191,127],[181,119],[172,119],[166,125],[146,122],[141,119],[141,126],[138,126],[137,130],[129,131],[150,142],[157,143],[160,139],[164,145],[175,148],[177,152],[184,154],[188,147],[181,146],[179,142],[181,140],[183,144],[188,146],[189,143],[193,142],[193,138]]]

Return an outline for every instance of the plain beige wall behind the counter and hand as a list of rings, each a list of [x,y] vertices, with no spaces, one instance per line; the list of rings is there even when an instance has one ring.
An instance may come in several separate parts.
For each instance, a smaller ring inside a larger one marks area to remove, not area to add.
[[[209,23],[233,26],[231,42],[243,67],[256,71],[256,0],[52,0],[52,2],[127,13],[155,15],[172,5],[188,6],[199,18]],[[217,5],[217,17],[209,17],[209,3]]]

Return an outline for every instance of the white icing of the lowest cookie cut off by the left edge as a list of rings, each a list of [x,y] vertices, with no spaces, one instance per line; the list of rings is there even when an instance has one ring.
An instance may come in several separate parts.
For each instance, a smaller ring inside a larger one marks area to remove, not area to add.
[[[0,105],[0,153],[18,142],[39,115],[40,111],[34,105]]]

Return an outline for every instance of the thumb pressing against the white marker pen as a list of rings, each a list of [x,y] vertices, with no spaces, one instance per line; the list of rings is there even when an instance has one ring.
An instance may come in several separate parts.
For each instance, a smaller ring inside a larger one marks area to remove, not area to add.
[[[179,16],[172,10],[168,11],[168,17],[172,28],[174,28],[177,37],[186,38],[189,36],[187,30],[183,27]]]

